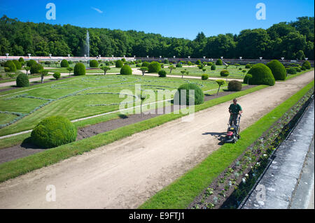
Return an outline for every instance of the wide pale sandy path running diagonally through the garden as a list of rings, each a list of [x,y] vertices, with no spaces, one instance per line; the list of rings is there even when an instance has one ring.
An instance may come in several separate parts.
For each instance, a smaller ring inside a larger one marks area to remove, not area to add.
[[[239,98],[245,129],[314,80],[314,71]],[[0,208],[137,208],[219,148],[230,101],[0,184]],[[45,197],[55,185],[56,201]]]

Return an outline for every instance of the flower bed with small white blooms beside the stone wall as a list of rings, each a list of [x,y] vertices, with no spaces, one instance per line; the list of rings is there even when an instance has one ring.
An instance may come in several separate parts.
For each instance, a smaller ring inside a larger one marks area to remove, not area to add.
[[[238,208],[269,166],[269,158],[288,137],[305,108],[313,100],[313,94],[314,87],[204,189],[188,208]]]

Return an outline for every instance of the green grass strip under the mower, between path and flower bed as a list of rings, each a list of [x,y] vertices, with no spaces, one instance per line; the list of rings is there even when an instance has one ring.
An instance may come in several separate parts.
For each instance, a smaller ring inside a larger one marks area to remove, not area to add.
[[[261,134],[276,120],[279,119],[288,109],[299,101],[302,96],[312,87],[314,80],[300,89],[289,99],[274,108],[255,124],[241,132],[241,138],[237,144],[225,144],[218,150],[212,152],[204,161],[195,166],[181,178],[178,178],[171,185],[148,199],[139,208],[151,209],[174,209],[187,208],[187,206],[198,196],[202,190],[208,187],[218,175],[227,168],[232,161],[248,148]]]

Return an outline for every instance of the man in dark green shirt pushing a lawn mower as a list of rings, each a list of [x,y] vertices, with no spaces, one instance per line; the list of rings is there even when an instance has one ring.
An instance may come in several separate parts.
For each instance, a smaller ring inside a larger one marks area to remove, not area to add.
[[[239,122],[241,120],[241,113],[243,110],[237,103],[237,99],[233,99],[233,103],[229,107],[230,121],[228,125],[228,133],[226,134],[223,143],[236,143],[239,136]]]

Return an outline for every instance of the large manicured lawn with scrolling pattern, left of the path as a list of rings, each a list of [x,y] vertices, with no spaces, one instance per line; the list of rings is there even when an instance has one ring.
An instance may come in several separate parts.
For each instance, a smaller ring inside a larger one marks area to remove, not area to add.
[[[172,91],[186,82],[196,83],[204,91],[218,87],[213,80],[177,80],[138,75],[86,75],[9,92],[0,92],[0,95],[9,94],[0,97],[0,111],[18,112],[26,115],[18,122],[0,129],[0,136],[33,129],[43,118],[51,115],[63,115],[70,120],[75,120],[80,117],[118,110],[120,108],[119,103],[122,101],[128,106],[136,105],[136,103],[140,103],[137,98],[140,90],[139,87],[135,87],[136,84],[141,85],[144,94],[148,90],[153,90],[154,95],[148,96],[144,101],[147,103],[160,101],[156,98],[158,90],[168,89]],[[122,90],[129,92],[120,95]],[[134,99],[137,99],[137,102],[132,103]],[[41,108],[41,106],[43,107]],[[3,120],[4,117],[0,119],[0,122],[4,122]]]

